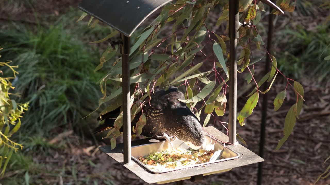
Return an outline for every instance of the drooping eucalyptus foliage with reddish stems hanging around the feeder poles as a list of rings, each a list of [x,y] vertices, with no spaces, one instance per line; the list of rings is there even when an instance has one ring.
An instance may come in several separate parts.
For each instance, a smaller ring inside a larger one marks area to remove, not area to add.
[[[153,93],[155,88],[168,88],[176,86],[182,88],[185,92],[185,99],[180,101],[187,104],[189,108],[200,118],[201,112],[207,114],[204,121],[206,126],[211,115],[223,116],[226,107],[227,82],[229,80],[229,42],[227,34],[218,35],[210,29],[208,15],[211,11],[218,11],[219,18],[216,26],[228,25],[229,16],[228,0],[177,0],[169,3],[162,9],[157,16],[145,29],[136,31],[132,39],[130,53],[131,69],[131,117],[133,118],[144,104],[143,100]],[[295,1],[278,0],[277,5],[285,12],[292,12],[295,8]],[[241,0],[240,1],[240,22],[251,23],[249,26],[239,28],[238,48],[238,72],[244,73],[247,83],[254,83],[255,88],[248,94],[248,100],[238,115],[238,121],[243,126],[245,119],[248,118],[256,106],[260,94],[267,93],[278,75],[287,80],[287,88],[296,93],[297,103],[294,104],[284,123],[284,137],[279,142],[277,148],[280,148],[284,141],[292,132],[293,126],[298,117],[303,103],[302,86],[289,78],[277,68],[277,62],[274,56],[269,53],[265,57],[270,57],[272,69],[260,80],[255,79],[254,64],[263,57],[254,58],[251,53],[251,45],[260,52],[265,52],[265,43],[258,33],[257,24],[261,19],[262,12],[265,12],[265,6],[261,1]],[[280,15],[280,12],[272,13]],[[82,20],[86,13],[83,13],[79,20]],[[98,20],[88,24],[97,24]],[[248,25],[248,24],[244,24]],[[166,28],[172,27],[171,32]],[[106,41],[118,35],[118,32],[110,33],[101,41]],[[215,38],[215,39],[213,39]],[[213,52],[206,52],[204,48],[211,45]],[[103,97],[99,100],[99,105],[108,103],[109,106],[101,114],[113,111],[121,105],[122,91],[118,83],[115,90],[109,93],[106,89],[107,81],[121,82],[121,58],[112,60],[119,54],[116,46],[112,46],[104,52],[100,59],[100,65],[96,70],[102,68],[106,63],[110,63],[112,68],[102,79],[98,81]],[[201,53],[204,58],[197,58],[197,53]],[[264,58],[265,58],[264,57]],[[195,59],[195,60],[194,60]],[[205,67],[210,66],[208,70]],[[271,82],[269,88],[262,92],[259,88],[265,82]],[[274,101],[275,110],[278,110],[285,98],[286,90],[281,92]],[[143,122],[145,119],[140,118]],[[222,123],[222,122],[221,122]],[[116,140],[121,133],[119,128],[122,126],[122,114],[120,114],[106,138],[111,139],[112,147],[115,147]],[[144,124],[139,124],[143,126]],[[139,130],[141,128],[135,128]],[[133,128],[134,130],[134,128]],[[243,140],[238,135],[238,139]],[[244,141],[244,140],[243,140]]]

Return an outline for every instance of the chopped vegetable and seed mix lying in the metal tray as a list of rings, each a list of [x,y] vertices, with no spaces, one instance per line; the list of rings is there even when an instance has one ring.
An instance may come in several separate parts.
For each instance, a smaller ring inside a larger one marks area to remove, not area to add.
[[[147,156],[140,156],[139,161],[147,165],[150,169],[156,172],[161,172],[210,162],[214,153],[214,151],[206,151],[202,149],[186,150],[178,148],[155,152]],[[222,157],[220,159],[222,159]]]

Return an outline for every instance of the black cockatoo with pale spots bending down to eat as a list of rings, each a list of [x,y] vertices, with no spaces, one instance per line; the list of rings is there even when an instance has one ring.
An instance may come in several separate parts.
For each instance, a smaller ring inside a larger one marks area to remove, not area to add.
[[[184,95],[176,87],[154,91],[150,99],[147,97],[143,107],[147,123],[142,129],[141,135],[155,139],[166,139],[169,143],[171,143],[171,139],[177,137],[192,149],[204,148],[207,142],[201,124],[186,104],[178,99],[184,99]],[[120,107],[102,115],[101,119],[104,120],[104,124],[97,127],[95,133],[112,128],[119,113]],[[135,116],[131,122],[131,127],[136,127],[141,114],[140,111]],[[98,118],[98,120],[101,119]],[[122,132],[122,127],[120,131]],[[171,135],[168,136],[165,132],[169,132]],[[132,132],[132,134],[134,133]]]

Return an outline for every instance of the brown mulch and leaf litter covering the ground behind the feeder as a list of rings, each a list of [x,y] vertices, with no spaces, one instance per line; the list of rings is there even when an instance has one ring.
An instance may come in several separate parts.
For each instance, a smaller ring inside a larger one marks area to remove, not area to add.
[[[77,5],[77,1],[49,1],[47,5],[40,4],[37,7],[41,13],[57,14],[68,5]],[[3,12],[10,18],[6,12]],[[16,12],[14,20],[19,20],[24,15],[31,16],[31,11],[25,9]],[[1,16],[0,16],[1,17]],[[4,16],[2,16],[3,18]],[[215,16],[216,17],[216,16]],[[259,69],[262,73],[262,65]],[[330,82],[320,85],[311,78],[298,80],[305,90],[304,107],[296,122],[295,128],[289,139],[281,147],[275,150],[278,141],[283,136],[284,118],[286,112],[295,103],[292,88],[288,88],[287,98],[281,109],[273,111],[273,100],[277,93],[285,89],[286,81],[278,77],[272,90],[269,92],[268,120],[266,128],[266,143],[263,165],[263,184],[268,185],[310,185],[313,184],[319,174],[327,167],[322,166],[330,151]],[[242,83],[242,82],[240,82]],[[243,83],[242,83],[243,84]],[[238,86],[238,91],[243,91],[243,86]],[[244,90],[245,91],[245,90]],[[244,106],[247,100],[246,92],[238,99],[238,110]],[[227,121],[227,114],[221,119]],[[212,122],[212,121],[210,121]],[[245,139],[247,148],[258,154],[260,123],[261,123],[261,99],[253,114],[245,121],[246,125],[238,125],[237,132]],[[211,125],[211,124],[209,124]],[[225,132],[221,124],[215,127]],[[65,131],[63,131],[65,132]],[[50,139],[49,139],[50,140]],[[45,166],[46,171],[31,176],[36,184],[145,184],[136,175],[126,170],[113,161],[108,155],[98,150],[98,147],[90,140],[82,140],[73,133],[64,136],[60,140],[53,140],[54,144],[66,140],[66,147],[60,149],[50,148],[48,155],[33,157],[36,163]],[[104,145],[104,144],[100,144]],[[205,176],[203,181],[187,184],[256,184],[258,165],[248,165],[233,169],[229,172]],[[22,173],[22,171],[7,172],[6,177]],[[39,183],[38,183],[39,182]],[[170,183],[174,184],[174,183]],[[330,178],[321,179],[317,184],[328,185]]]

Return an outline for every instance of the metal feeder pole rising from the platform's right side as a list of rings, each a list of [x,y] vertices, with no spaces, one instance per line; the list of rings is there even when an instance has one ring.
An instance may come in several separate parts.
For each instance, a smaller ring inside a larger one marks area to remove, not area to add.
[[[229,143],[236,143],[236,114],[237,114],[237,61],[236,46],[239,28],[239,0],[229,1]]]

